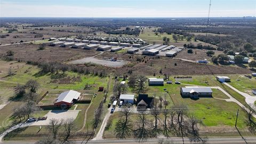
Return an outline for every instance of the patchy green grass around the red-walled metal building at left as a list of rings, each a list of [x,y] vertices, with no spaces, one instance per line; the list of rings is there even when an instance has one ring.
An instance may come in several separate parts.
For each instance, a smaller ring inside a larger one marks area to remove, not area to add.
[[[38,90],[38,95],[42,96],[46,91],[49,91],[50,94],[46,95],[45,99],[41,101],[42,103],[52,103],[55,98],[58,97],[60,92],[66,91],[66,90],[76,90],[80,91],[83,93],[89,93],[90,95],[85,95],[85,98],[93,95],[93,93],[97,94],[97,97],[92,98],[92,106],[90,107],[90,110],[88,111],[89,113],[87,115],[87,123],[86,127],[82,129],[82,131],[87,131],[87,126],[90,131],[93,130],[93,118],[94,118],[94,111],[95,109],[99,106],[100,101],[103,98],[103,92],[98,92],[99,86],[104,86],[107,87],[107,82],[108,82],[108,77],[98,77],[98,76],[93,76],[93,75],[80,75],[77,73],[73,72],[66,72],[67,77],[79,77],[79,81],[73,81],[70,83],[66,84],[59,84],[53,83],[51,77],[52,75],[50,74],[44,74],[44,75],[38,75],[40,69],[37,66],[33,65],[27,65],[26,63],[23,62],[16,62],[16,61],[2,61],[1,62],[1,74],[0,74],[0,85],[1,85],[1,90],[10,90],[10,92],[7,91],[1,91],[1,93],[5,93],[5,100],[11,98],[14,96],[14,87],[17,86],[17,84],[25,84],[29,79],[35,79],[41,86]],[[15,66],[14,66],[15,65]],[[19,65],[19,66],[18,66]],[[12,67],[12,71],[14,73],[13,76],[7,76],[8,67]],[[90,85],[90,89],[84,90],[85,85],[88,84]],[[23,101],[22,100],[15,100],[15,101],[10,101],[8,105],[6,105],[3,109],[0,110],[0,124],[1,124],[1,131],[3,131],[7,126],[10,126],[14,119],[12,118],[12,110],[13,108],[22,105]],[[77,108],[76,110],[81,110],[78,113],[78,116],[75,120],[75,123],[77,125],[77,130],[80,130],[83,127],[83,122],[85,118],[85,110],[89,107],[89,104],[83,104],[83,103],[78,103],[76,104]],[[74,109],[74,106],[71,108]],[[32,116],[39,117],[39,116],[44,116],[49,112],[49,109],[47,110],[42,110],[39,113],[36,113]],[[36,128],[35,128],[36,127]],[[18,131],[18,133],[23,132],[23,133],[36,133],[38,131],[37,126],[31,126],[31,127],[26,127],[26,129],[22,129],[21,131]],[[42,129],[42,132],[45,132],[46,129]],[[12,139],[12,138],[8,138]]]

